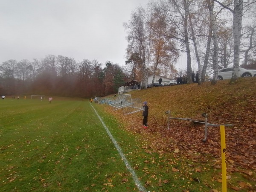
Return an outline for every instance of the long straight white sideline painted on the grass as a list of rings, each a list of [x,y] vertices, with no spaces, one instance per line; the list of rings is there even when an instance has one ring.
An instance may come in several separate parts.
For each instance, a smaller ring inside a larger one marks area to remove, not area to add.
[[[99,117],[99,120],[102,122],[102,125],[104,126],[105,130],[108,133],[108,136],[111,138],[113,144],[115,145],[117,151],[119,152],[119,155],[121,156],[122,160],[125,162],[125,165],[127,167],[127,169],[129,170],[129,172],[132,175],[132,178],[134,179],[134,182],[137,186],[137,188],[142,191],[142,192],[146,192],[146,189],[144,188],[144,186],[140,183],[140,180],[138,179],[136,173],[134,172],[134,169],[132,169],[132,167],[130,166],[128,160],[125,158],[125,155],[123,154],[120,146],[116,143],[116,140],[114,139],[114,137],[112,136],[111,132],[108,130],[108,127],[105,125],[105,123],[103,122],[102,118],[99,116],[99,114],[97,113],[97,111],[95,110],[95,108],[93,107],[93,105],[90,103],[90,105],[92,106],[93,110],[95,111],[96,115]]]

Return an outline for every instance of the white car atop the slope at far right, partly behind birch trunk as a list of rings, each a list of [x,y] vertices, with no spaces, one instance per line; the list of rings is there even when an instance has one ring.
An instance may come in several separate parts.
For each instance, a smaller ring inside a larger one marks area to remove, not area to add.
[[[218,71],[218,80],[231,79],[233,67],[224,68]],[[256,77],[256,70],[246,70],[239,67],[238,77]]]

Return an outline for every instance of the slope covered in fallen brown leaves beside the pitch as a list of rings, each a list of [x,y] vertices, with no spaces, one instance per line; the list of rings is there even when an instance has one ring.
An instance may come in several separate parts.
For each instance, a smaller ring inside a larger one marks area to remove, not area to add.
[[[143,134],[152,150],[167,152],[179,148],[188,157],[191,153],[220,157],[219,127],[208,127],[205,143],[202,142],[204,124],[171,119],[167,130],[167,110],[172,117],[197,120],[204,120],[201,113],[207,113],[209,123],[233,124],[233,127],[225,127],[228,171],[238,171],[239,167],[256,169],[256,78],[239,79],[233,84],[226,80],[216,85],[207,82],[201,86],[153,87],[135,90],[131,96],[148,102],[147,130],[142,128],[140,112],[123,116],[120,111],[109,111],[125,122],[127,129]]]

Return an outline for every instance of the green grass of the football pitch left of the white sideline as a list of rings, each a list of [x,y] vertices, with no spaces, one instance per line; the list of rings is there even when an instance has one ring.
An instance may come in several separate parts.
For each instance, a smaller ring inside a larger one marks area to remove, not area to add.
[[[136,187],[87,101],[5,99],[0,130],[1,191]]]

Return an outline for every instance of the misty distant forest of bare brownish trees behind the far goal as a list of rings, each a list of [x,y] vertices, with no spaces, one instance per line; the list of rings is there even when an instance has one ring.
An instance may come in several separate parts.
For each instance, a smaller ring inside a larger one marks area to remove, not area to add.
[[[32,62],[11,59],[0,65],[0,95],[90,98],[118,93],[118,87],[132,79],[111,61],[102,66],[97,60],[77,62],[61,55],[47,55]]]

